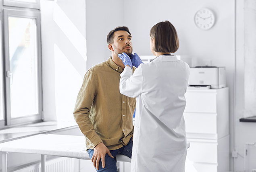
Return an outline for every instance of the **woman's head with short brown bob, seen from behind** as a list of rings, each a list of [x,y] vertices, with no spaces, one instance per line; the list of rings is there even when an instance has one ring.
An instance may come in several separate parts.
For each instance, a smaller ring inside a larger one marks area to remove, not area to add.
[[[150,29],[150,37],[155,39],[153,50],[175,53],[179,48],[179,39],[175,27],[169,22],[159,22]]]

